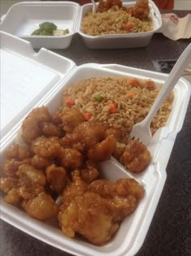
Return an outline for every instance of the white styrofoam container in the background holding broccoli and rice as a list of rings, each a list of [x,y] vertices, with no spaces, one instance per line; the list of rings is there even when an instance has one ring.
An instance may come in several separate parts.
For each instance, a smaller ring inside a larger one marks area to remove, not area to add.
[[[133,7],[136,1],[123,2],[125,7]],[[74,33],[83,37],[85,45],[91,49],[136,48],[149,44],[153,34],[161,27],[162,19],[155,3],[149,1],[150,15],[154,29],[145,33],[113,34],[92,37],[83,33],[81,24],[84,15],[91,11],[92,4],[80,7],[76,2],[19,2],[13,5],[2,19],[0,30],[31,41],[36,49],[64,49],[70,46]],[[65,36],[31,36],[45,21],[53,22],[57,28],[69,28]]]

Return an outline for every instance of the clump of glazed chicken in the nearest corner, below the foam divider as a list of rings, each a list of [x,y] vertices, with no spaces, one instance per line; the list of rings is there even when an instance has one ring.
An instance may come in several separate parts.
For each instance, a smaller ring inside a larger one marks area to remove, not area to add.
[[[130,189],[134,182],[134,189]],[[62,231],[66,236],[78,233],[92,244],[104,245],[117,232],[120,222],[138,206],[144,194],[141,188],[133,179],[116,183],[95,180],[87,185],[75,171],[73,181],[63,192],[58,214]]]

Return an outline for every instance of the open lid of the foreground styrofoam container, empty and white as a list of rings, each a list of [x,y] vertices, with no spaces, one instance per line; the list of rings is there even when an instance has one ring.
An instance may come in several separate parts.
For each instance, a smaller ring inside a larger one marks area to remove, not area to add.
[[[3,140],[36,102],[57,88],[75,63],[58,54],[32,50],[28,41],[0,32],[1,138]]]

